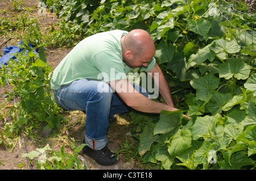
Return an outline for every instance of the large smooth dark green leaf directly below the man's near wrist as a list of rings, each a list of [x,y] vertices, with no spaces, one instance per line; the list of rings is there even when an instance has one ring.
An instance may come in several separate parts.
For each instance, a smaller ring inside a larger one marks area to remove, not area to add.
[[[181,110],[166,111],[162,110],[159,121],[155,125],[154,134],[166,134],[179,128],[183,113]]]

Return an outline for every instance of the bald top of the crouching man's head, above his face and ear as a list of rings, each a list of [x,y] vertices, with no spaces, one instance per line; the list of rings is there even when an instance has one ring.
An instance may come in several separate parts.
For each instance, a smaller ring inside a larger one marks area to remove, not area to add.
[[[144,30],[132,30],[123,37],[122,48],[130,50],[134,56],[141,56],[144,53],[155,54],[155,44],[150,34]]]

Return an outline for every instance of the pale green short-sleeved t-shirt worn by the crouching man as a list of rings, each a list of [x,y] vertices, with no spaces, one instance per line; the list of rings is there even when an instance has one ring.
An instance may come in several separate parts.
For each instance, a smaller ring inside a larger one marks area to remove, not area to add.
[[[127,33],[113,30],[82,40],[54,70],[51,88],[57,90],[82,78],[104,82],[126,79],[131,68],[122,61],[121,37]],[[154,65],[153,57],[142,69],[150,71]]]

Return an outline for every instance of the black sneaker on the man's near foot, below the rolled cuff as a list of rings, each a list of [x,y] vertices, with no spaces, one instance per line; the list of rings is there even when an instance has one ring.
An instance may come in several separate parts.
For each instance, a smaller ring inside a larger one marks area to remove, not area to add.
[[[101,150],[93,150],[88,145],[82,148],[82,152],[88,157],[93,158],[99,165],[110,166],[118,163],[117,155],[113,154],[107,146]]]

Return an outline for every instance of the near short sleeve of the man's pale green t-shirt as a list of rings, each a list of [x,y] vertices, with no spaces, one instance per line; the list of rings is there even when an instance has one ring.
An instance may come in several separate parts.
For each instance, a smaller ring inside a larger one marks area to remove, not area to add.
[[[127,78],[125,74],[125,66],[118,53],[112,51],[98,53],[94,56],[93,63],[100,71],[97,78],[98,80],[109,82]]]

